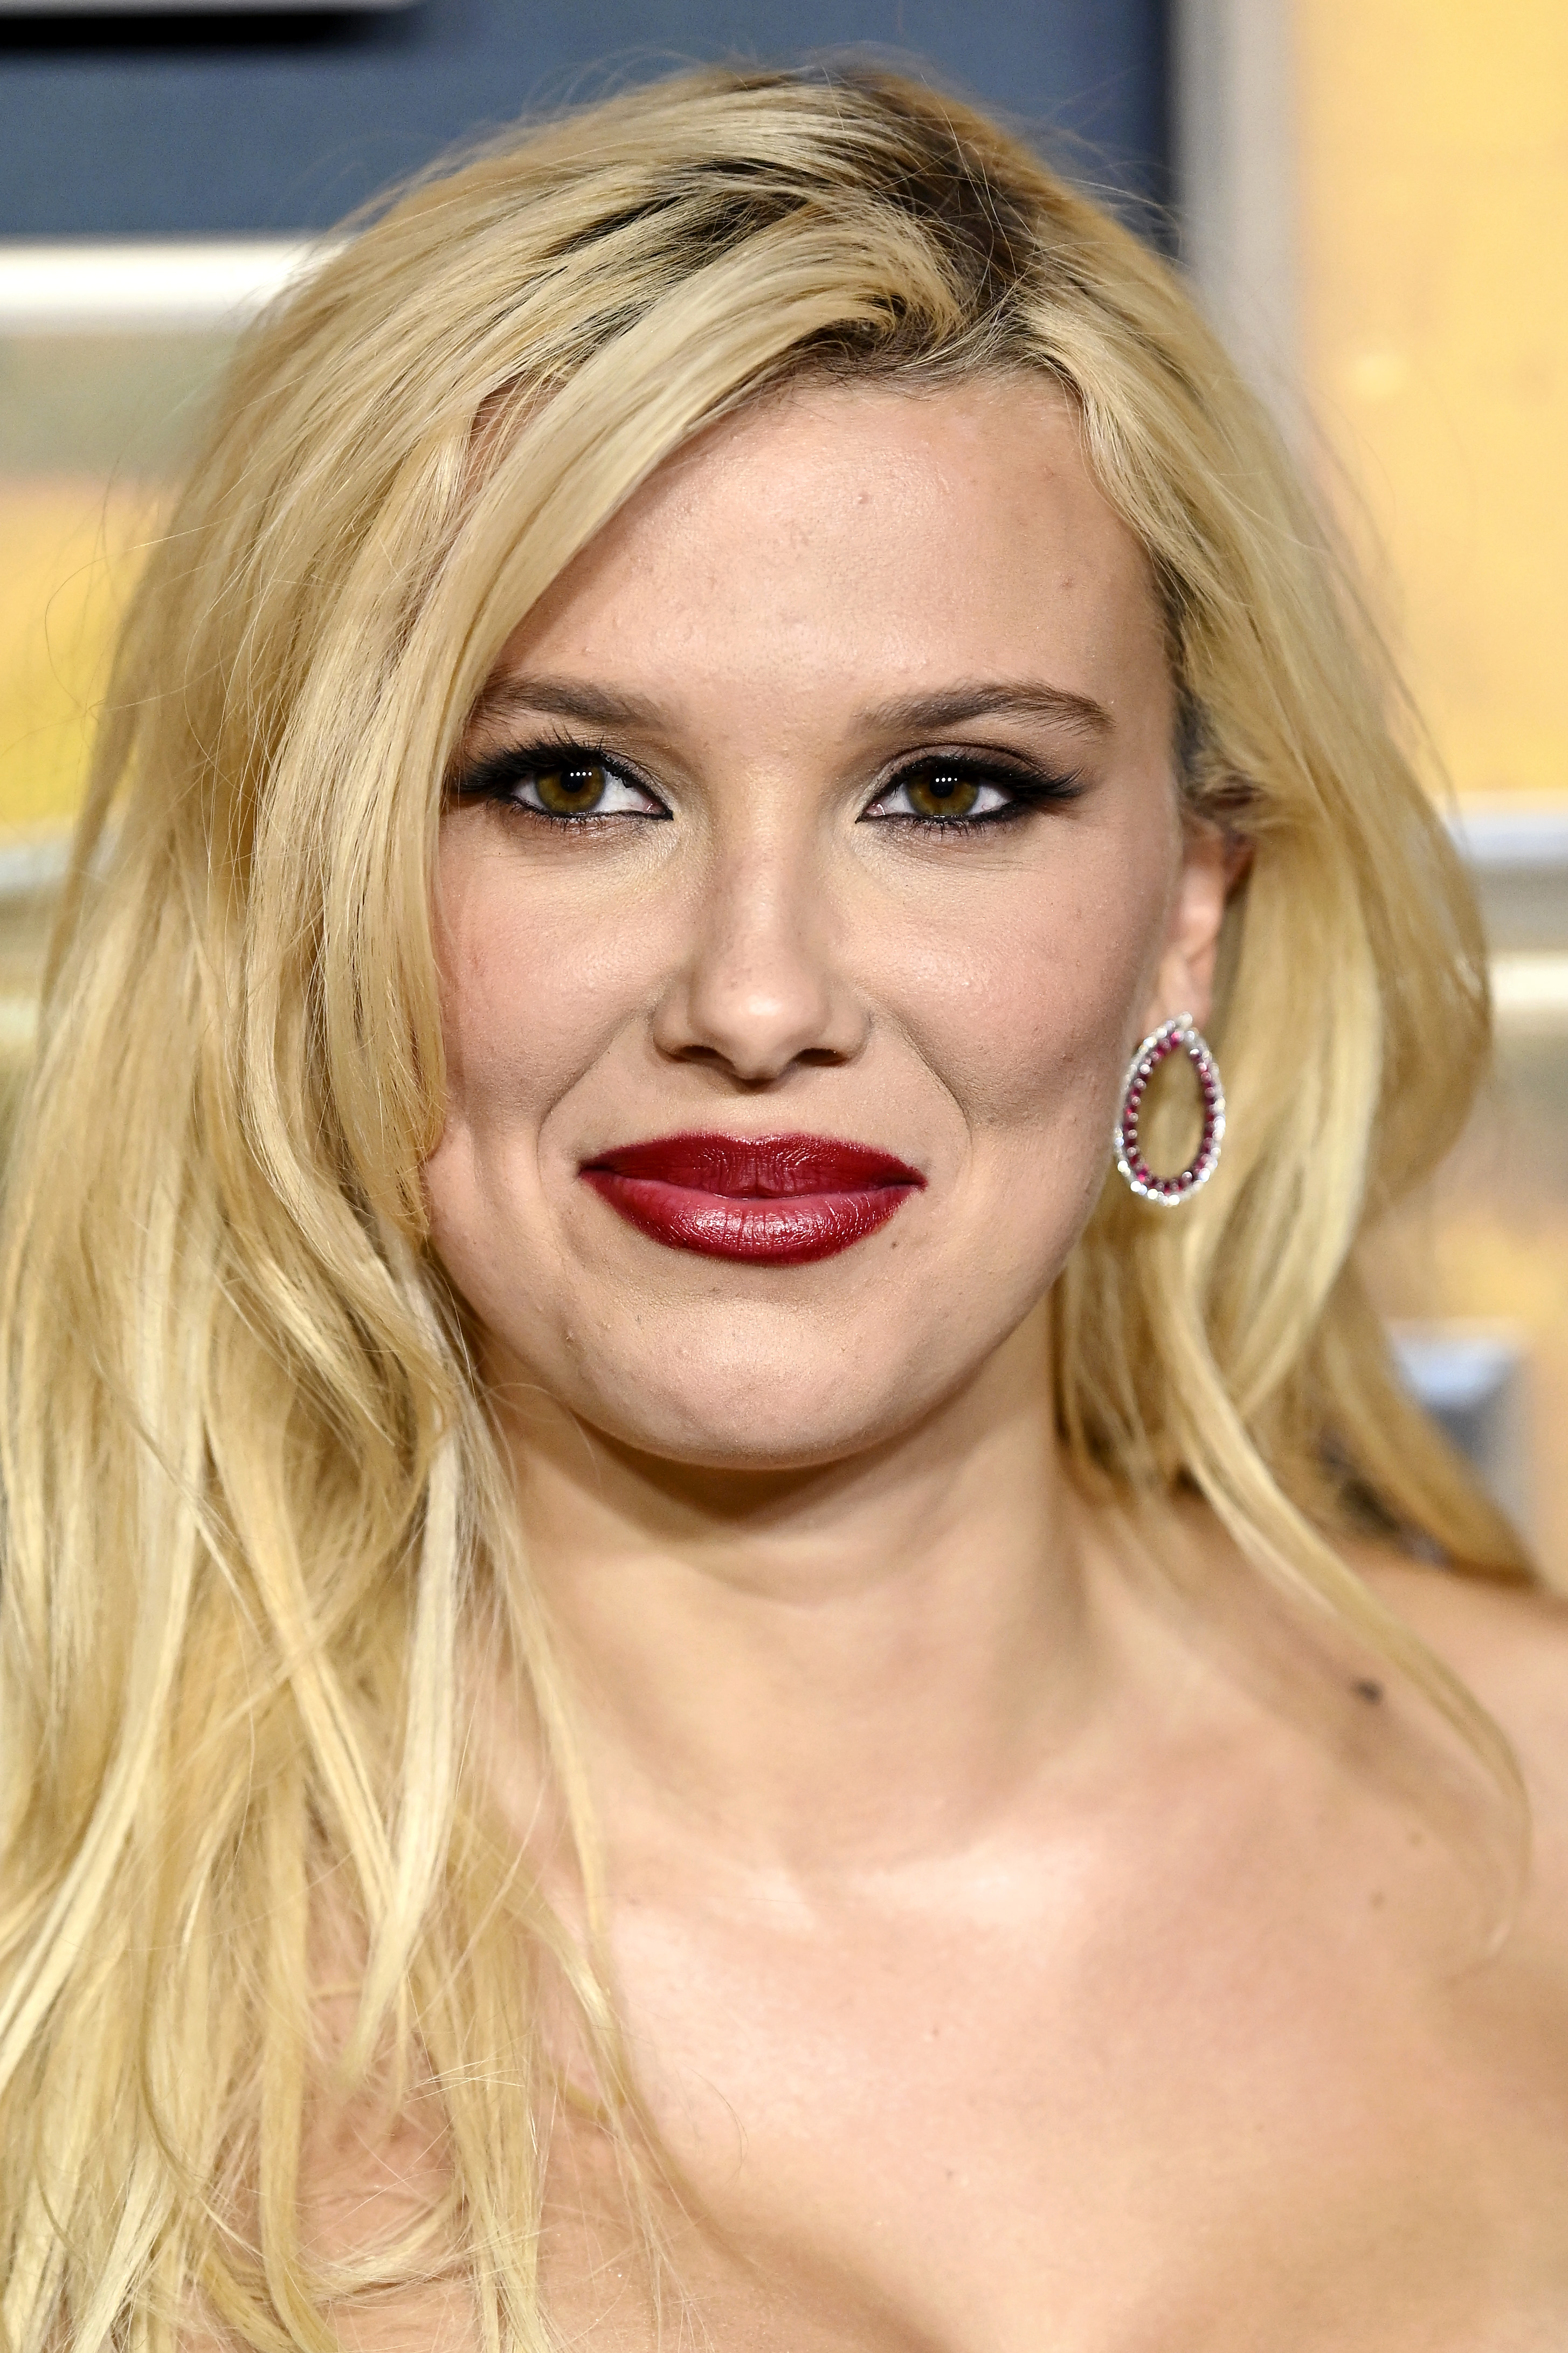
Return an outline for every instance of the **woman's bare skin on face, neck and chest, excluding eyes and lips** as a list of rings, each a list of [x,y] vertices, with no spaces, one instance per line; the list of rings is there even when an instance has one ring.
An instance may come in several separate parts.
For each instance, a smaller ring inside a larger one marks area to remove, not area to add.
[[[976,687],[1011,704],[917,708]],[[1537,1859],[1488,1958],[1500,1807],[1418,1699],[1204,1513],[1133,1529],[1058,1461],[1048,1289],[1133,1042],[1208,1009],[1232,873],[1182,826],[1147,567],[1072,419],[1004,379],[719,426],[517,628],[470,758],[583,696],[623,708],[571,732],[672,814],[454,800],[425,1179],[712,2341],[1561,2346],[1552,1605],[1361,1562],[1521,1748]],[[926,751],[1081,791],[973,838],[879,816]],[[926,1191],[813,1266],[661,1249],[578,1167],[689,1127],[853,1136]],[[552,1871],[501,1694],[482,1739]],[[324,2118],[322,2245],[437,2177],[416,2115],[374,2148]],[[644,2353],[623,2238],[562,2122],[552,2311]],[[470,2341],[456,2289],[346,2329]]]

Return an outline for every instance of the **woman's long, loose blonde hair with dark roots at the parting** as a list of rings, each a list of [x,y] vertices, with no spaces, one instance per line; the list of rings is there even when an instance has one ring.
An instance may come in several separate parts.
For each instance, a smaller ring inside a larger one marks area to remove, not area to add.
[[[1465,1115],[1481,939],[1258,402],[1161,259],[912,82],[708,71],[515,132],[249,332],[108,696],[2,1261],[9,2353],[153,2353],[195,2308],[329,2341],[296,2217],[329,1875],[346,2068],[418,2047],[430,2228],[487,2344],[550,2341],[545,1972],[611,2125],[635,2092],[461,1769],[484,1617],[574,1802],[425,1247],[442,779],[517,616],[698,426],[804,374],[994,367],[1074,405],[1168,614],[1180,788],[1253,845],[1225,1160],[1180,1217],[1107,1181],[1060,1278],[1063,1440],[1110,1492],[1199,1489],[1474,1729],[1328,1539],[1371,1515],[1526,1574],[1354,1268]]]

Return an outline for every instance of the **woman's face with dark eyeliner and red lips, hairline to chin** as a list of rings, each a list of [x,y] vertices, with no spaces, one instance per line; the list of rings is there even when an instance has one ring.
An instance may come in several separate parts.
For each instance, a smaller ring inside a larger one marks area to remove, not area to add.
[[[961,1391],[1138,1035],[1206,1012],[1171,746],[1046,386],[809,388],[663,466],[510,638],[442,819],[425,1181],[489,1377],[759,1468]]]

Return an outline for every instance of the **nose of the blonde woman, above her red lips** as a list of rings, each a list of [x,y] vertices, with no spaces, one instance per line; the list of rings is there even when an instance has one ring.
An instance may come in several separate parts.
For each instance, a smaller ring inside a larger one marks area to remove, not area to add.
[[[689,922],[654,1012],[661,1054],[712,1064],[741,1087],[856,1059],[870,1012],[835,953],[827,878],[804,842],[731,845]]]

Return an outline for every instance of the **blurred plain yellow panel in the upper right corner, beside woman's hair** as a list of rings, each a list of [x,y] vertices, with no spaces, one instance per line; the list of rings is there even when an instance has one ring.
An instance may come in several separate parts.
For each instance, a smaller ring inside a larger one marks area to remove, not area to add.
[[[1298,0],[1300,351],[1462,795],[1568,793],[1568,5]]]

